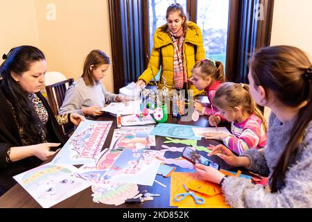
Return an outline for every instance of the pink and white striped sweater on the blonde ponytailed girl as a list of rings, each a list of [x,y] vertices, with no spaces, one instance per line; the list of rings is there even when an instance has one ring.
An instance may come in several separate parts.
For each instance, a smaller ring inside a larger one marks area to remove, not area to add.
[[[223,143],[235,153],[241,154],[250,148],[266,146],[266,131],[263,128],[262,120],[255,114],[251,114],[242,123],[232,122],[231,131],[233,135],[225,137]]]

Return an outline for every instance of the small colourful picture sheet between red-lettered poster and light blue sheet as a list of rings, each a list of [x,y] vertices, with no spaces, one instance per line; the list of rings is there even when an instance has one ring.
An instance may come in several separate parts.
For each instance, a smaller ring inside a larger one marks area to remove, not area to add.
[[[129,126],[114,130],[111,149],[150,148],[155,146],[155,136],[150,135],[154,126]]]

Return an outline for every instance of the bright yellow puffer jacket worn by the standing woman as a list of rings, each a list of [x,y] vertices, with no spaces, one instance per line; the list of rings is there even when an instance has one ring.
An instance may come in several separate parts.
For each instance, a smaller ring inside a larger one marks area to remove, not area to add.
[[[185,33],[183,43],[183,59],[184,65],[187,67],[187,76],[191,78],[191,69],[196,62],[205,59],[205,49],[202,42],[202,32],[200,28],[193,22],[187,22],[188,27]],[[164,25],[166,26],[166,25]],[[162,31],[164,26],[157,28],[154,35],[154,47],[150,55],[150,61],[147,69],[139,77],[139,80],[144,80],[146,84],[157,75],[160,65],[162,65],[162,76],[166,78],[168,89],[173,89],[173,43],[168,33]],[[153,70],[153,71],[152,71]],[[164,80],[160,77],[158,88],[164,86]],[[194,90],[194,95],[201,91],[196,89],[194,85],[190,85],[189,89]]]

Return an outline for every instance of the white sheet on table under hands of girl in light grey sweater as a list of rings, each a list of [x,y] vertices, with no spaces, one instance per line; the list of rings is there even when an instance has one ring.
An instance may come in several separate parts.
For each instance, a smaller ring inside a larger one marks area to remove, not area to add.
[[[101,111],[110,112],[112,114],[130,115],[140,112],[141,100],[128,101],[127,103],[110,103]]]

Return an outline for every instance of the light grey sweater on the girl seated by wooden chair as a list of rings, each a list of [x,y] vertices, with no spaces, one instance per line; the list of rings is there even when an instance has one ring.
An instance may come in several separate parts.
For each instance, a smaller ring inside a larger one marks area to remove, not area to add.
[[[78,78],[77,82],[67,89],[59,114],[74,112],[82,115],[83,108],[104,107],[105,103],[116,101],[116,96],[117,94],[107,92],[101,81],[97,85],[87,86],[83,78]]]

